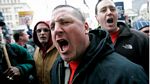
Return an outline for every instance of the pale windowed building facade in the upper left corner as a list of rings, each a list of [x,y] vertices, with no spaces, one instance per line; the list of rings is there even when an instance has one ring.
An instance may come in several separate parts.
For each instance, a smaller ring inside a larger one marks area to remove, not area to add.
[[[30,6],[25,0],[0,0],[0,12],[4,16],[4,22],[15,28],[19,25],[19,12],[30,10]]]

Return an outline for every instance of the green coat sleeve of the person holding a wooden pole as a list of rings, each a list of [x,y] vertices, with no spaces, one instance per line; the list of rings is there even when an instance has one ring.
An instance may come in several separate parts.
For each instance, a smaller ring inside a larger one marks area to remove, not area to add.
[[[22,46],[14,45],[13,48],[17,56],[14,64],[19,68],[21,78],[28,77],[34,67],[33,57]]]

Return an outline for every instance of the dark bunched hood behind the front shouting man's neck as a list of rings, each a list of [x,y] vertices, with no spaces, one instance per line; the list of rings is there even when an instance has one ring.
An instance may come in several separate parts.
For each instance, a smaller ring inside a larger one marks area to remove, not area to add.
[[[93,63],[103,59],[107,54],[114,51],[114,46],[110,39],[109,33],[105,30],[91,30],[89,33],[90,45],[83,54],[82,61],[79,64],[80,71],[84,71]]]

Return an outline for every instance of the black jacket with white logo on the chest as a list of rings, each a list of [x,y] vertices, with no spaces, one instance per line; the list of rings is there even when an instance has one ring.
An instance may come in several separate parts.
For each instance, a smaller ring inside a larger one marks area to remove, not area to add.
[[[124,23],[118,22],[119,36],[115,49],[132,62],[141,65],[149,75],[149,38],[144,33],[129,29]]]

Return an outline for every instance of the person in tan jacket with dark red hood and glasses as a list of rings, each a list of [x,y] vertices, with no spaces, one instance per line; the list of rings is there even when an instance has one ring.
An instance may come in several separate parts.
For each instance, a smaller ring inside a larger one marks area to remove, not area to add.
[[[50,84],[50,70],[58,56],[57,49],[51,40],[49,24],[40,21],[34,27],[33,41],[37,45],[34,60],[37,70],[37,78],[40,84]]]

